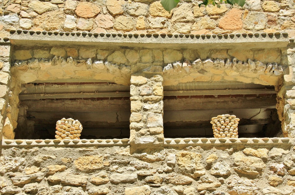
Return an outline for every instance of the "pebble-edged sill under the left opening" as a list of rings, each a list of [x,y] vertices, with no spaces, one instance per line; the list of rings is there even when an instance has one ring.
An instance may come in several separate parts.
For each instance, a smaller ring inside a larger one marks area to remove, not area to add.
[[[106,139],[106,140],[2,140],[2,147],[51,147],[51,146],[67,146],[73,147],[77,146],[86,146],[86,145],[98,145],[98,146],[122,146],[122,145],[129,145],[129,139]]]

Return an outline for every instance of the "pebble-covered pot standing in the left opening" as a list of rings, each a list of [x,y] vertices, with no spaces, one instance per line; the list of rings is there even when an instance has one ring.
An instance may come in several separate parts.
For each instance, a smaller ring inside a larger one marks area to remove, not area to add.
[[[72,118],[69,119],[61,119],[56,122],[56,127],[55,135],[56,139],[59,140],[75,140],[79,139],[81,136],[81,132],[83,130],[82,124],[78,120],[74,120]]]

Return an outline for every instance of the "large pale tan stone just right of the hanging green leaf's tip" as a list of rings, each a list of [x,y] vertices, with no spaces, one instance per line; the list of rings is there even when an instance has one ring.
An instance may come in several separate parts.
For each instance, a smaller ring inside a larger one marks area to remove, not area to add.
[[[172,22],[194,22],[192,5],[188,3],[181,4],[175,9],[171,20]]]

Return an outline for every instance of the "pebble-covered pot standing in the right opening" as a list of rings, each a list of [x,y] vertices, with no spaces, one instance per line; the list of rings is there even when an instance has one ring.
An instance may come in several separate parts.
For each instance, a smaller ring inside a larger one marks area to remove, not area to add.
[[[212,121],[212,129],[215,138],[221,137],[238,137],[238,124],[240,119],[235,115],[230,114],[222,114],[217,117],[213,117]]]

